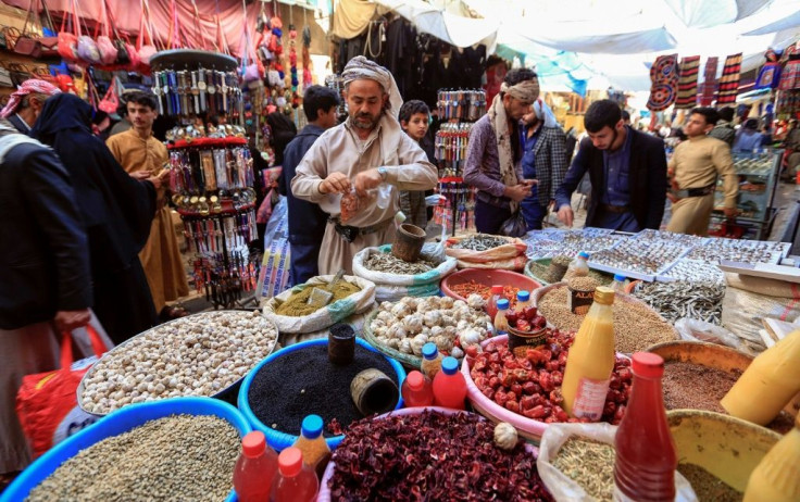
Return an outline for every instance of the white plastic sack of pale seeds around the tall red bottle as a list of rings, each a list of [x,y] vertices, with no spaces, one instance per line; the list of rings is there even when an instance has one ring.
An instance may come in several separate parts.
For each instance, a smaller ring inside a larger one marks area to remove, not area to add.
[[[539,444],[539,456],[536,468],[542,482],[555,500],[595,502],[598,499],[587,493],[608,494],[614,487],[614,436],[616,426],[611,424],[552,424],[545,430]],[[573,444],[568,456],[560,450],[570,439],[587,441],[583,444],[591,451],[582,452],[580,444]],[[601,444],[599,444],[601,443]],[[603,448],[610,447],[612,450]],[[573,475],[582,476],[580,482],[564,474],[561,468]],[[603,498],[602,500],[604,500]],[[696,501],[691,485],[677,470],[675,472],[675,500],[680,502]]]

